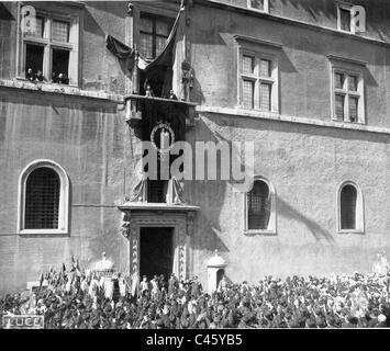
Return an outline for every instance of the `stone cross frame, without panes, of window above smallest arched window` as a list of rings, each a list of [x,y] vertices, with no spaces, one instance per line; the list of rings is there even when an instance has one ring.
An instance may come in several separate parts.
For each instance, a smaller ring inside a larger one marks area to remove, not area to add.
[[[344,75],[343,89],[336,88],[335,75]],[[357,77],[357,90],[352,91],[348,87],[348,79],[350,76]],[[336,114],[336,94],[344,95],[344,120],[337,118]],[[335,65],[331,63],[331,106],[332,121],[350,124],[366,124],[366,104],[365,104],[365,79],[363,70],[349,68],[346,65]],[[349,98],[358,98],[357,121],[352,122],[349,118]]]

